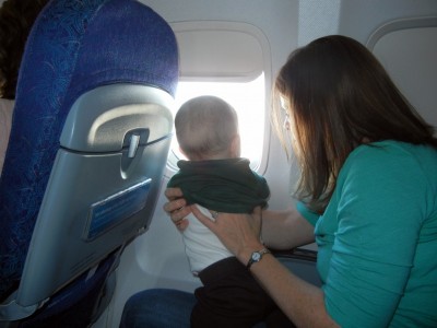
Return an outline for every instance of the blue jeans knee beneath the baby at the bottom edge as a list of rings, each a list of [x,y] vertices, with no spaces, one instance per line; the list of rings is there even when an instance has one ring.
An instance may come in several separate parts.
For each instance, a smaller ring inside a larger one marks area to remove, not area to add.
[[[125,305],[120,328],[189,328],[194,294],[177,290],[145,290]]]

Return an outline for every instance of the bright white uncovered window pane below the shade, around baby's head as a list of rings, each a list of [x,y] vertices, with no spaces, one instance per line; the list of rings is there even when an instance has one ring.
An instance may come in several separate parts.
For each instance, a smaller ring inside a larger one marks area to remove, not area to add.
[[[191,82],[181,81],[176,93],[176,108],[200,95],[214,95],[228,102],[238,114],[241,137],[241,156],[250,160],[252,169],[260,166],[265,126],[264,74],[249,82]],[[169,165],[185,159],[179,152],[176,136],[173,139]]]

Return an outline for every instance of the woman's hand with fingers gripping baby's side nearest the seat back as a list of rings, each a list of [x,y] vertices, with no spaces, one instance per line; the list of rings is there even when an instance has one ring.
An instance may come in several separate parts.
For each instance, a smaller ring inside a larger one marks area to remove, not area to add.
[[[167,188],[164,192],[169,200],[164,204],[164,211],[170,215],[179,231],[184,231],[188,226],[188,220],[185,218],[191,213],[191,208],[187,207],[187,201],[184,198],[182,190],[179,188]]]

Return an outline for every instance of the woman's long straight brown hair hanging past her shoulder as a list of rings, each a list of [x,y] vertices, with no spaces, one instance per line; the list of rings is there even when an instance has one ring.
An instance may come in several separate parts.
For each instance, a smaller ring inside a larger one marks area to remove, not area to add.
[[[340,35],[319,38],[291,54],[274,84],[293,121],[302,169],[296,197],[324,211],[340,168],[359,144],[398,140],[437,148],[434,128],[400,93],[390,77],[358,42]],[[273,122],[284,145],[281,112]]]

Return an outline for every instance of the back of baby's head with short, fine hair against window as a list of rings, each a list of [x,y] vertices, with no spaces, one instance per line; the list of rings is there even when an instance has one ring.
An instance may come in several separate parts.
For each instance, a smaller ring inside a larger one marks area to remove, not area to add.
[[[218,97],[186,102],[176,114],[175,127],[180,150],[191,161],[240,156],[237,113]]]

